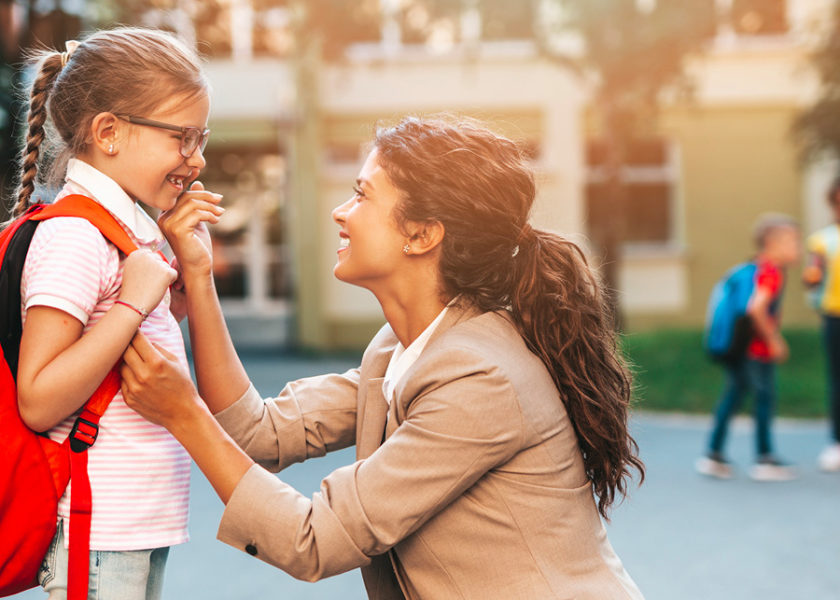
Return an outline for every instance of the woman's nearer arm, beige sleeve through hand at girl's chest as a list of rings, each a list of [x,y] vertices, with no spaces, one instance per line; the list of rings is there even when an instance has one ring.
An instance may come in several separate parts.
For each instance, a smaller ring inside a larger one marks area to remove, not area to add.
[[[367,564],[520,449],[510,383],[469,360],[456,352],[430,364],[429,381],[418,386],[427,391],[397,431],[369,458],[329,475],[312,499],[233,448],[187,374],[142,336],[126,352],[123,393],[173,432],[226,503],[219,538],[252,545],[262,560],[311,581]],[[441,379],[453,364],[457,373]]]

